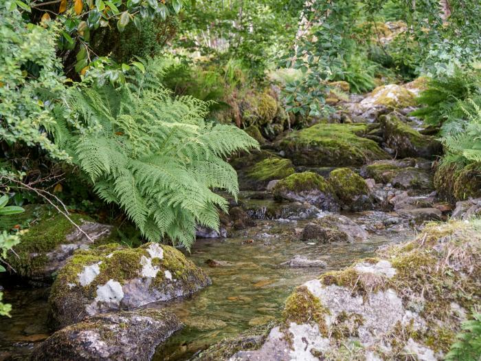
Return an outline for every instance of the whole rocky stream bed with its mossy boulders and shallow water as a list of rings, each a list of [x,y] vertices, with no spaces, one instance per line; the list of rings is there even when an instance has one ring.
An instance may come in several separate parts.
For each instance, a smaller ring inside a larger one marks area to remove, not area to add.
[[[456,205],[440,187],[441,146],[407,116],[422,85],[339,98],[233,158],[240,198],[191,254],[31,206],[0,359],[442,359],[481,300],[481,187]]]

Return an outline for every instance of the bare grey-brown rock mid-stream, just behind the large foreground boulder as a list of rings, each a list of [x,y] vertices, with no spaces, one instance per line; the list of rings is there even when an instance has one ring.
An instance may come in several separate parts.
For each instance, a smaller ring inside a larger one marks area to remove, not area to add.
[[[368,233],[348,217],[327,215],[308,223],[300,238],[303,241],[317,240],[322,243],[354,243],[366,241]]]

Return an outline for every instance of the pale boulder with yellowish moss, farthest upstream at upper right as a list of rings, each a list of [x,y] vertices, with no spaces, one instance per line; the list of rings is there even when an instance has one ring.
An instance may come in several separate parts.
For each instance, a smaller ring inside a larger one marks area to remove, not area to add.
[[[389,109],[403,109],[414,107],[416,98],[414,93],[402,85],[382,85],[374,89],[359,105],[363,109],[382,106]]]

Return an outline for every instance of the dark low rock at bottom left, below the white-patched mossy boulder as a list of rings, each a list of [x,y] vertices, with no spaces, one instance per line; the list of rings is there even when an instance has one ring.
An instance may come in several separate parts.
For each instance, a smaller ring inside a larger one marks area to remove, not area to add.
[[[174,314],[157,309],[101,314],[56,331],[34,350],[32,361],[150,360],[181,328]]]

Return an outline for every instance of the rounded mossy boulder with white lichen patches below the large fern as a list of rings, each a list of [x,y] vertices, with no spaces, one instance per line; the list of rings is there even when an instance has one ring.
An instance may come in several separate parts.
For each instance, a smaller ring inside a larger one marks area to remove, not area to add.
[[[118,244],[77,251],[63,267],[49,296],[49,319],[60,328],[87,316],[189,296],[210,278],[168,245]]]

